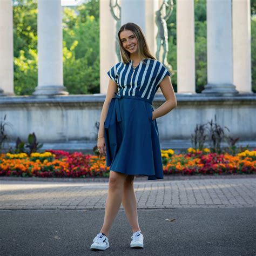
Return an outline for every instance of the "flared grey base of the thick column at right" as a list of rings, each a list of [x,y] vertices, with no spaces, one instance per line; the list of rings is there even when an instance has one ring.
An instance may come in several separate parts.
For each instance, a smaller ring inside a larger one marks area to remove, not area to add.
[[[206,84],[205,89],[201,91],[202,95],[212,96],[234,96],[238,93],[233,84]]]

